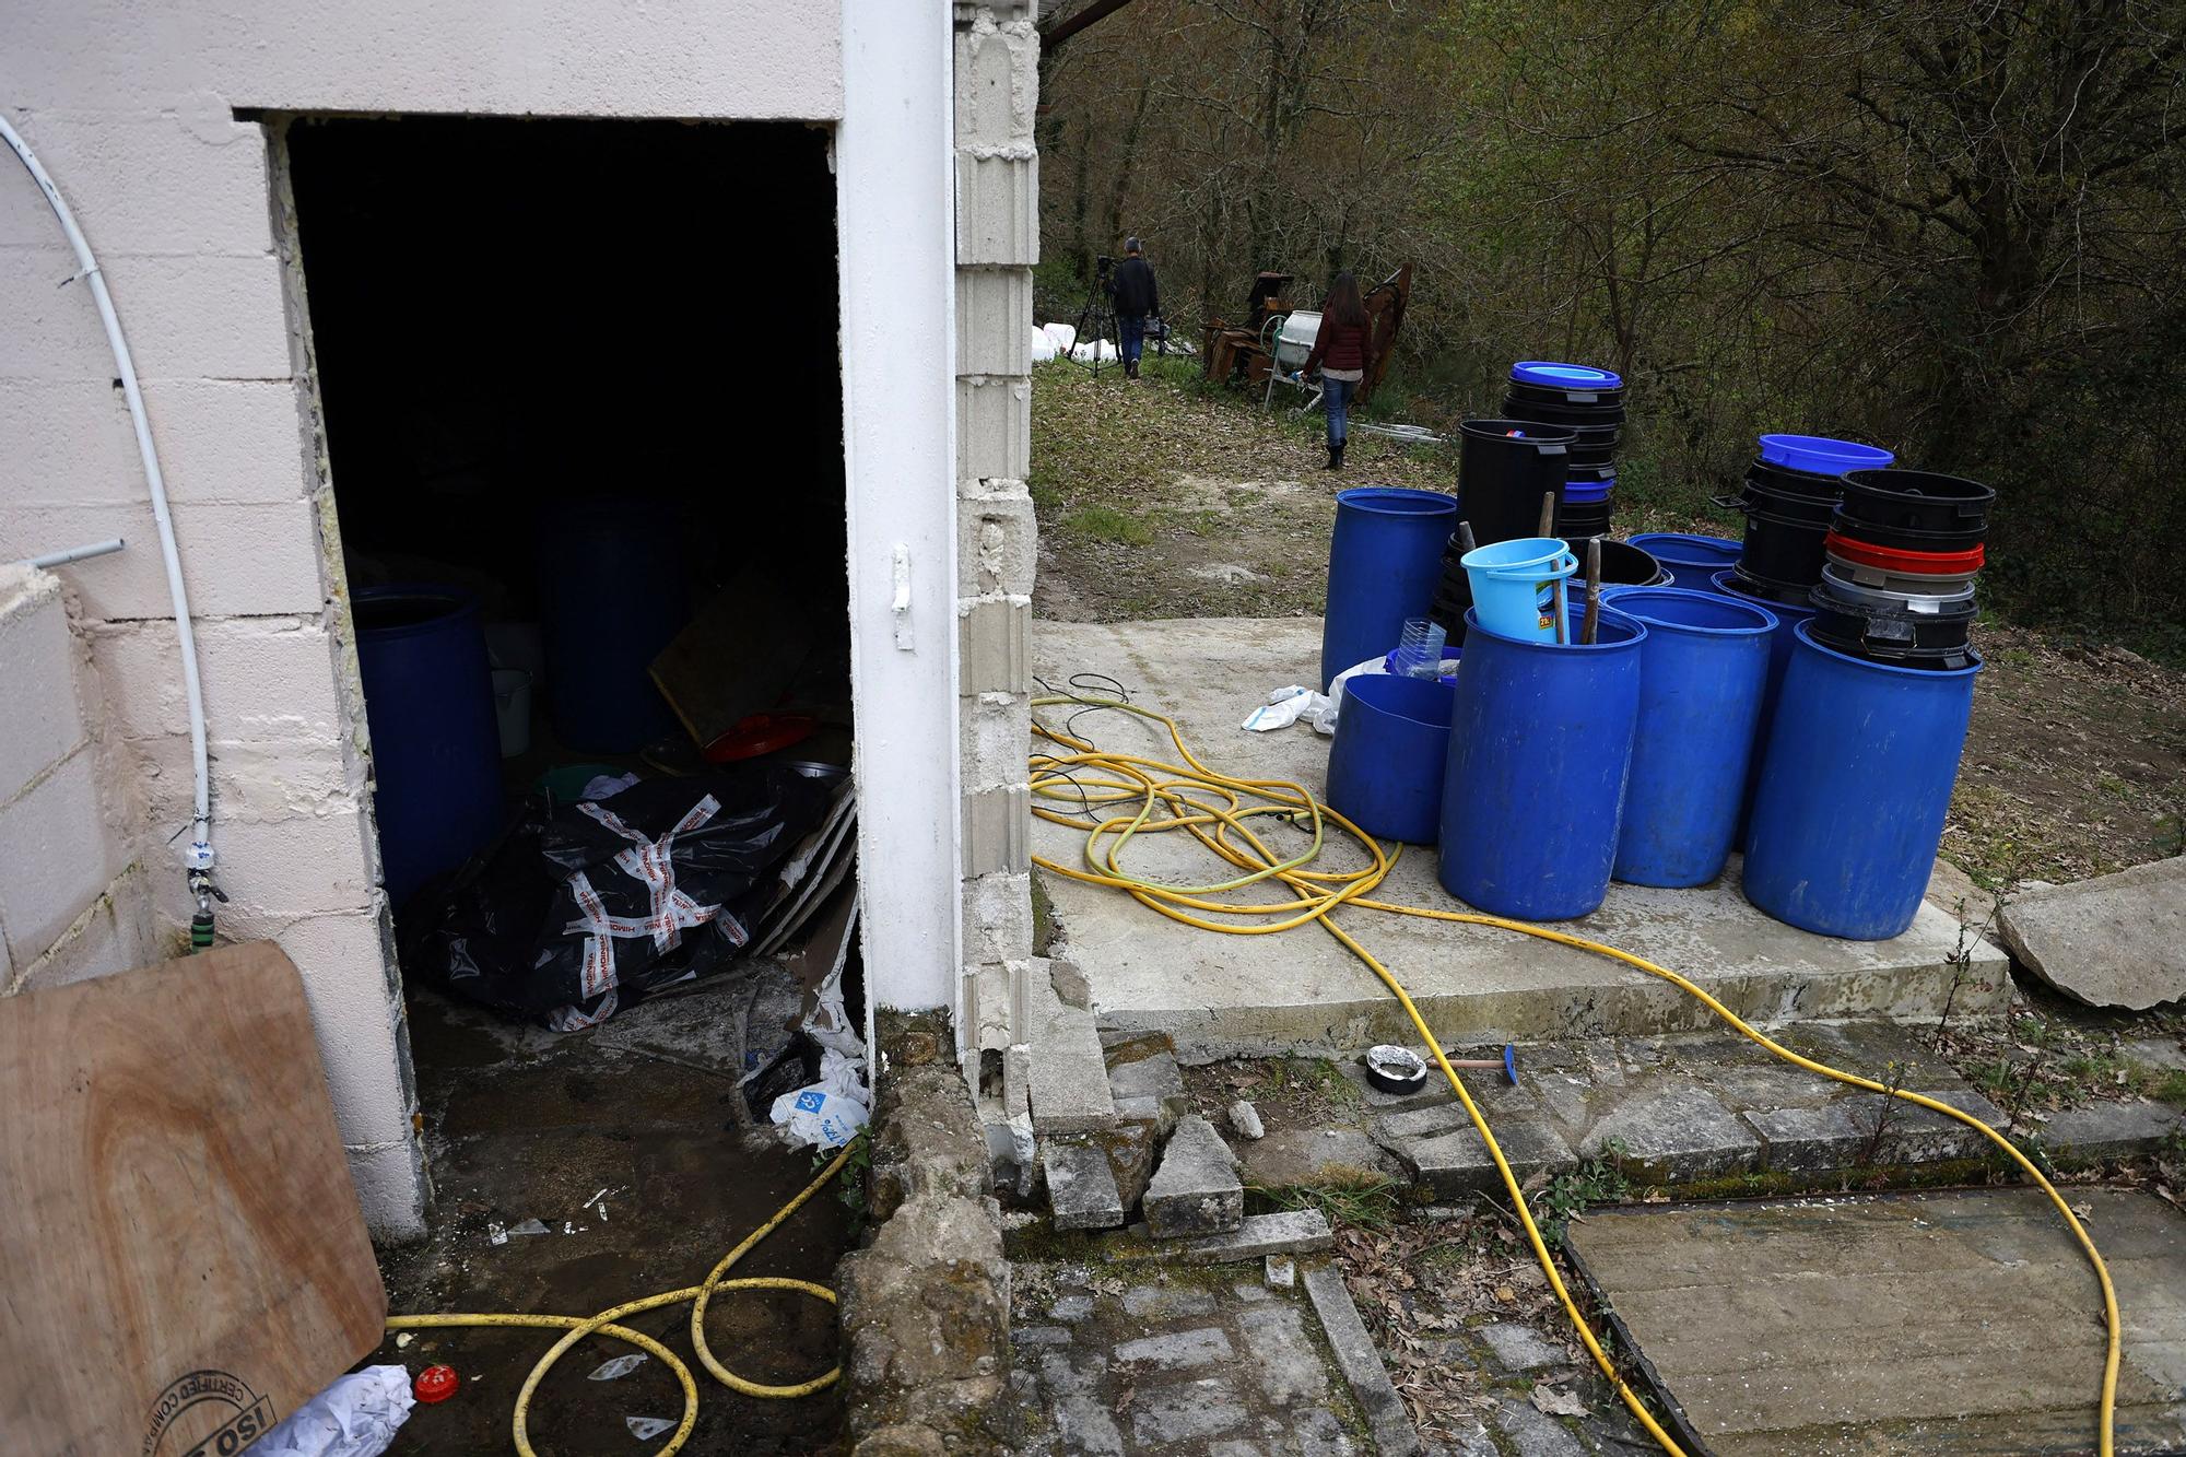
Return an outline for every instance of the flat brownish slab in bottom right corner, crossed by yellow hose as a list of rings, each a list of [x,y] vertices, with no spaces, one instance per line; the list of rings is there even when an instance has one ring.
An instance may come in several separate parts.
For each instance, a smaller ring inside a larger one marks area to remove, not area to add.
[[[2125,1321],[2118,1450],[2186,1442],[2186,1219],[2072,1190]],[[1596,1210],[1570,1247],[1692,1450],[2094,1446],[2094,1273],[2040,1190]]]

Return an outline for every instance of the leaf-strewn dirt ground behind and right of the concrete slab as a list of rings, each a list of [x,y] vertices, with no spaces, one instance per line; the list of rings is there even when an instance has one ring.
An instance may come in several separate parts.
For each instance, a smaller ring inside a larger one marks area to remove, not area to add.
[[[1323,610],[1336,492],[1454,490],[1456,462],[1355,435],[1320,470],[1320,416],[1264,413],[1189,361],[1032,385],[1034,610],[1056,621]],[[1733,525],[1620,503],[1618,532]],[[1987,672],[1943,851],[1987,879],[2066,882],[2186,851],[2186,672],[2064,634],[1983,626]]]

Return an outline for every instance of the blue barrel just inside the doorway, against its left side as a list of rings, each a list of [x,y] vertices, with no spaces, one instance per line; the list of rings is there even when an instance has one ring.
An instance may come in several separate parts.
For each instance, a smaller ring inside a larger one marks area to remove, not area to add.
[[[501,731],[479,606],[448,586],[356,593],[372,807],[396,904],[501,829]]]

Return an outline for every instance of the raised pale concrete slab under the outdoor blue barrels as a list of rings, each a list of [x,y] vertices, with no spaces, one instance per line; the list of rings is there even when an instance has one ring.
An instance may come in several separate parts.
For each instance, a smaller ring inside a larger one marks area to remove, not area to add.
[[[1034,630],[1036,672],[1047,683],[1076,672],[1110,674],[1132,702],[1174,715],[1204,764],[1314,792],[1325,785],[1329,739],[1309,728],[1244,733],[1237,724],[1268,689],[1309,678],[1318,654],[1318,619],[1036,623]],[[1056,709],[1043,718],[1062,722]],[[1135,715],[1080,713],[1073,722],[1078,735],[1106,750],[1178,757],[1159,724]],[[1266,834],[1283,847],[1305,842],[1294,829],[1270,825]],[[1078,866],[1084,836],[1036,820],[1034,853]],[[1128,855],[1126,864],[1143,875],[1209,879],[1207,853],[1185,836],[1143,836]],[[1360,864],[1358,847],[1338,840],[1320,869]],[[1954,1017],[2005,1006],[2009,976],[2000,952],[1976,945],[1963,965],[1952,963],[1956,917],[1924,904],[1895,941],[1812,936],[1751,908],[1738,893],[1736,864],[1723,882],[1699,890],[1611,886],[1598,912],[1561,930],[1681,971],[1760,1024],[1935,1017],[1954,980]],[[1110,888],[1051,873],[1045,879],[1104,1026],[1170,1033],[1185,1061],[1412,1041],[1395,998],[1320,928],[1242,941],[1170,921]],[[1434,882],[1432,849],[1406,849],[1377,895],[1465,910]],[[1373,910],[1340,912],[1340,923],[1406,982],[1427,1022],[1452,1041],[1714,1026],[1712,1013],[1685,993],[1602,956],[1495,928]]]

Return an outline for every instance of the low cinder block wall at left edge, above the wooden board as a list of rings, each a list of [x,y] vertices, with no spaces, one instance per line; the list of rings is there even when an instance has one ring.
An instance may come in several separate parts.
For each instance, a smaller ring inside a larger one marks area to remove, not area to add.
[[[160,960],[136,777],[61,580],[0,567],[0,995]]]

